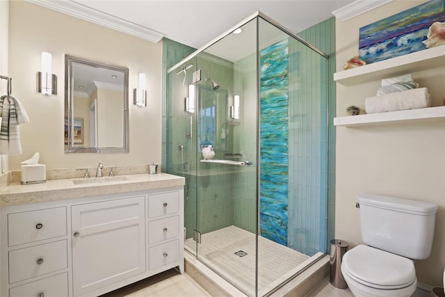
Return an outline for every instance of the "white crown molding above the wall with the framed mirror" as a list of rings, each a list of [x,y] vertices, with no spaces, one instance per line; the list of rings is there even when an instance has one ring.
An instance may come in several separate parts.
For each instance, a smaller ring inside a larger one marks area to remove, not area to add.
[[[79,19],[86,20],[107,28],[127,33],[129,35],[136,36],[151,42],[159,42],[165,34],[159,33],[152,29],[133,24],[124,19],[118,17],[113,17],[113,15],[108,15],[102,13],[99,10],[83,6],[81,3],[74,1],[51,1],[51,0],[26,0],[30,3],[43,6],[52,10],[56,10],[59,13],[65,13],[66,15],[71,15]]]

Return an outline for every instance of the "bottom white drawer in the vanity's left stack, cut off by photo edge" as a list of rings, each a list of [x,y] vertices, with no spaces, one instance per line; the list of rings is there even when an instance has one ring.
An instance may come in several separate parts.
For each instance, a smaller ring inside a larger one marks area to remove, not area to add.
[[[43,294],[43,295],[39,295]],[[15,287],[9,290],[10,297],[42,296],[42,297],[67,297],[68,296],[68,273],[51,276]]]

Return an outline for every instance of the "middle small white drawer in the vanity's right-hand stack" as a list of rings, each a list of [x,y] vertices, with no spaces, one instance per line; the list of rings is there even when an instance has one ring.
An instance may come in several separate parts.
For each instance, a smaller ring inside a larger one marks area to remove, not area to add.
[[[172,239],[179,236],[179,216],[152,220],[148,223],[148,243]]]

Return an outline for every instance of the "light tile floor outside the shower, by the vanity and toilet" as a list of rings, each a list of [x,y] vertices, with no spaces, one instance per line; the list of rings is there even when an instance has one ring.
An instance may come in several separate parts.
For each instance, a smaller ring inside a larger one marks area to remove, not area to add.
[[[101,297],[209,297],[187,273],[180,275],[175,269],[117,289]],[[426,291],[417,290],[412,297],[428,297]],[[216,297],[216,296],[215,296]],[[235,296],[236,297],[236,296]],[[299,296],[297,296],[299,297]],[[306,297],[353,297],[349,289],[337,289],[325,278]]]

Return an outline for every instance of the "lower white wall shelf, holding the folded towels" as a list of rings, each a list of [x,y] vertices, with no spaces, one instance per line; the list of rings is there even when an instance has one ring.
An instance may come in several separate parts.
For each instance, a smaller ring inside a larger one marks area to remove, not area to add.
[[[389,122],[442,120],[445,122],[445,106],[426,109],[410,109],[407,111],[390,111],[387,113],[371,113],[366,115],[350,115],[334,118],[334,126],[359,127],[378,125]]]

